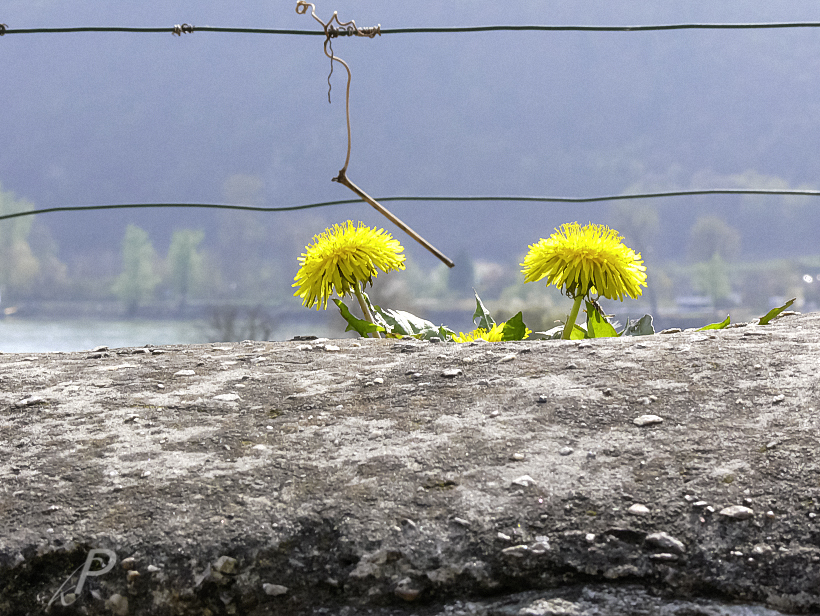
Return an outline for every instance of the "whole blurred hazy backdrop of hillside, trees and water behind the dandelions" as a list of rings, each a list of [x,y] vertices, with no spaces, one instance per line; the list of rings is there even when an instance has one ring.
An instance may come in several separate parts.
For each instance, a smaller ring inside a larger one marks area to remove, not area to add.
[[[319,2],[359,26],[820,21],[811,1]],[[295,2],[5,0],[9,28],[315,30]],[[169,33],[0,38],[0,211],[108,203],[264,206],[347,199],[344,71],[322,38]],[[353,71],[348,176],[389,195],[596,196],[820,188],[820,29],[488,32],[344,38]],[[392,202],[453,270],[367,204],[257,214],[119,210],[0,222],[0,350],[343,335],[292,297],[297,258],[347,219],[385,227],[405,272],[376,303],[471,328],[475,288],[534,330],[569,301],[523,284],[528,245],[565,222],[620,231],[643,254],[656,329],[820,303],[820,200],[703,196],[587,205]],[[349,334],[348,334],[349,335]]]

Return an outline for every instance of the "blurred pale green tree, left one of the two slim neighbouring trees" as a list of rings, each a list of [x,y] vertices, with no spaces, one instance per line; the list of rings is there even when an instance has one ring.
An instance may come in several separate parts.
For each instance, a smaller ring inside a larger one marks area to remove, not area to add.
[[[156,252],[148,233],[136,225],[128,225],[122,241],[122,273],[112,291],[126,304],[129,316],[134,316],[140,303],[151,299],[160,278],[155,271]]]

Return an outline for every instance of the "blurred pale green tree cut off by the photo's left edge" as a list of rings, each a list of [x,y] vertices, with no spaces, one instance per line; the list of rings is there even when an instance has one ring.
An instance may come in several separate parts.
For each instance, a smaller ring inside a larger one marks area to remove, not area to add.
[[[12,192],[0,186],[0,214],[27,212],[34,204],[17,199]],[[25,292],[34,283],[40,271],[40,262],[31,250],[28,236],[33,217],[23,216],[0,222],[0,290]]]

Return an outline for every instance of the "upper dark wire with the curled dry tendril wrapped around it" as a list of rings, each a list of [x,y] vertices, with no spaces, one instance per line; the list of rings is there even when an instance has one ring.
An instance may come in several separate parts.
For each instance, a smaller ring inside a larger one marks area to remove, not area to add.
[[[494,25],[494,26],[457,26],[431,28],[382,28],[382,34],[440,34],[457,32],[498,32],[498,31],[539,31],[539,32],[652,32],[659,30],[757,30],[772,28],[820,28],[816,21],[791,21],[773,23],[688,23],[657,24],[646,26],[580,26],[580,25]],[[302,36],[325,36],[322,30],[289,30],[282,28],[220,28],[215,26],[192,26],[192,32],[230,32],[239,34],[293,34]],[[179,34],[174,27],[165,28],[128,28],[108,26],[81,26],[74,28],[9,28],[0,31],[2,34],[60,34],[68,32],[131,32]],[[343,32],[338,32],[344,36]]]

